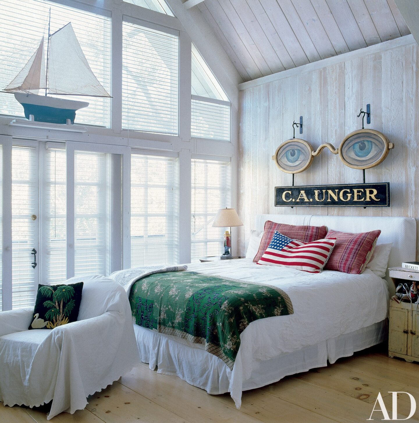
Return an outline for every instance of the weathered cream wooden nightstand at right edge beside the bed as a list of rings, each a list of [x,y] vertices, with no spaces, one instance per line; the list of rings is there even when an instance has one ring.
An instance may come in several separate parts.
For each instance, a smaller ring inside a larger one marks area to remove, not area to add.
[[[391,267],[390,277],[397,286],[400,282],[419,281],[419,272]],[[409,363],[419,361],[419,308],[410,302],[390,300],[388,357],[404,358]]]

